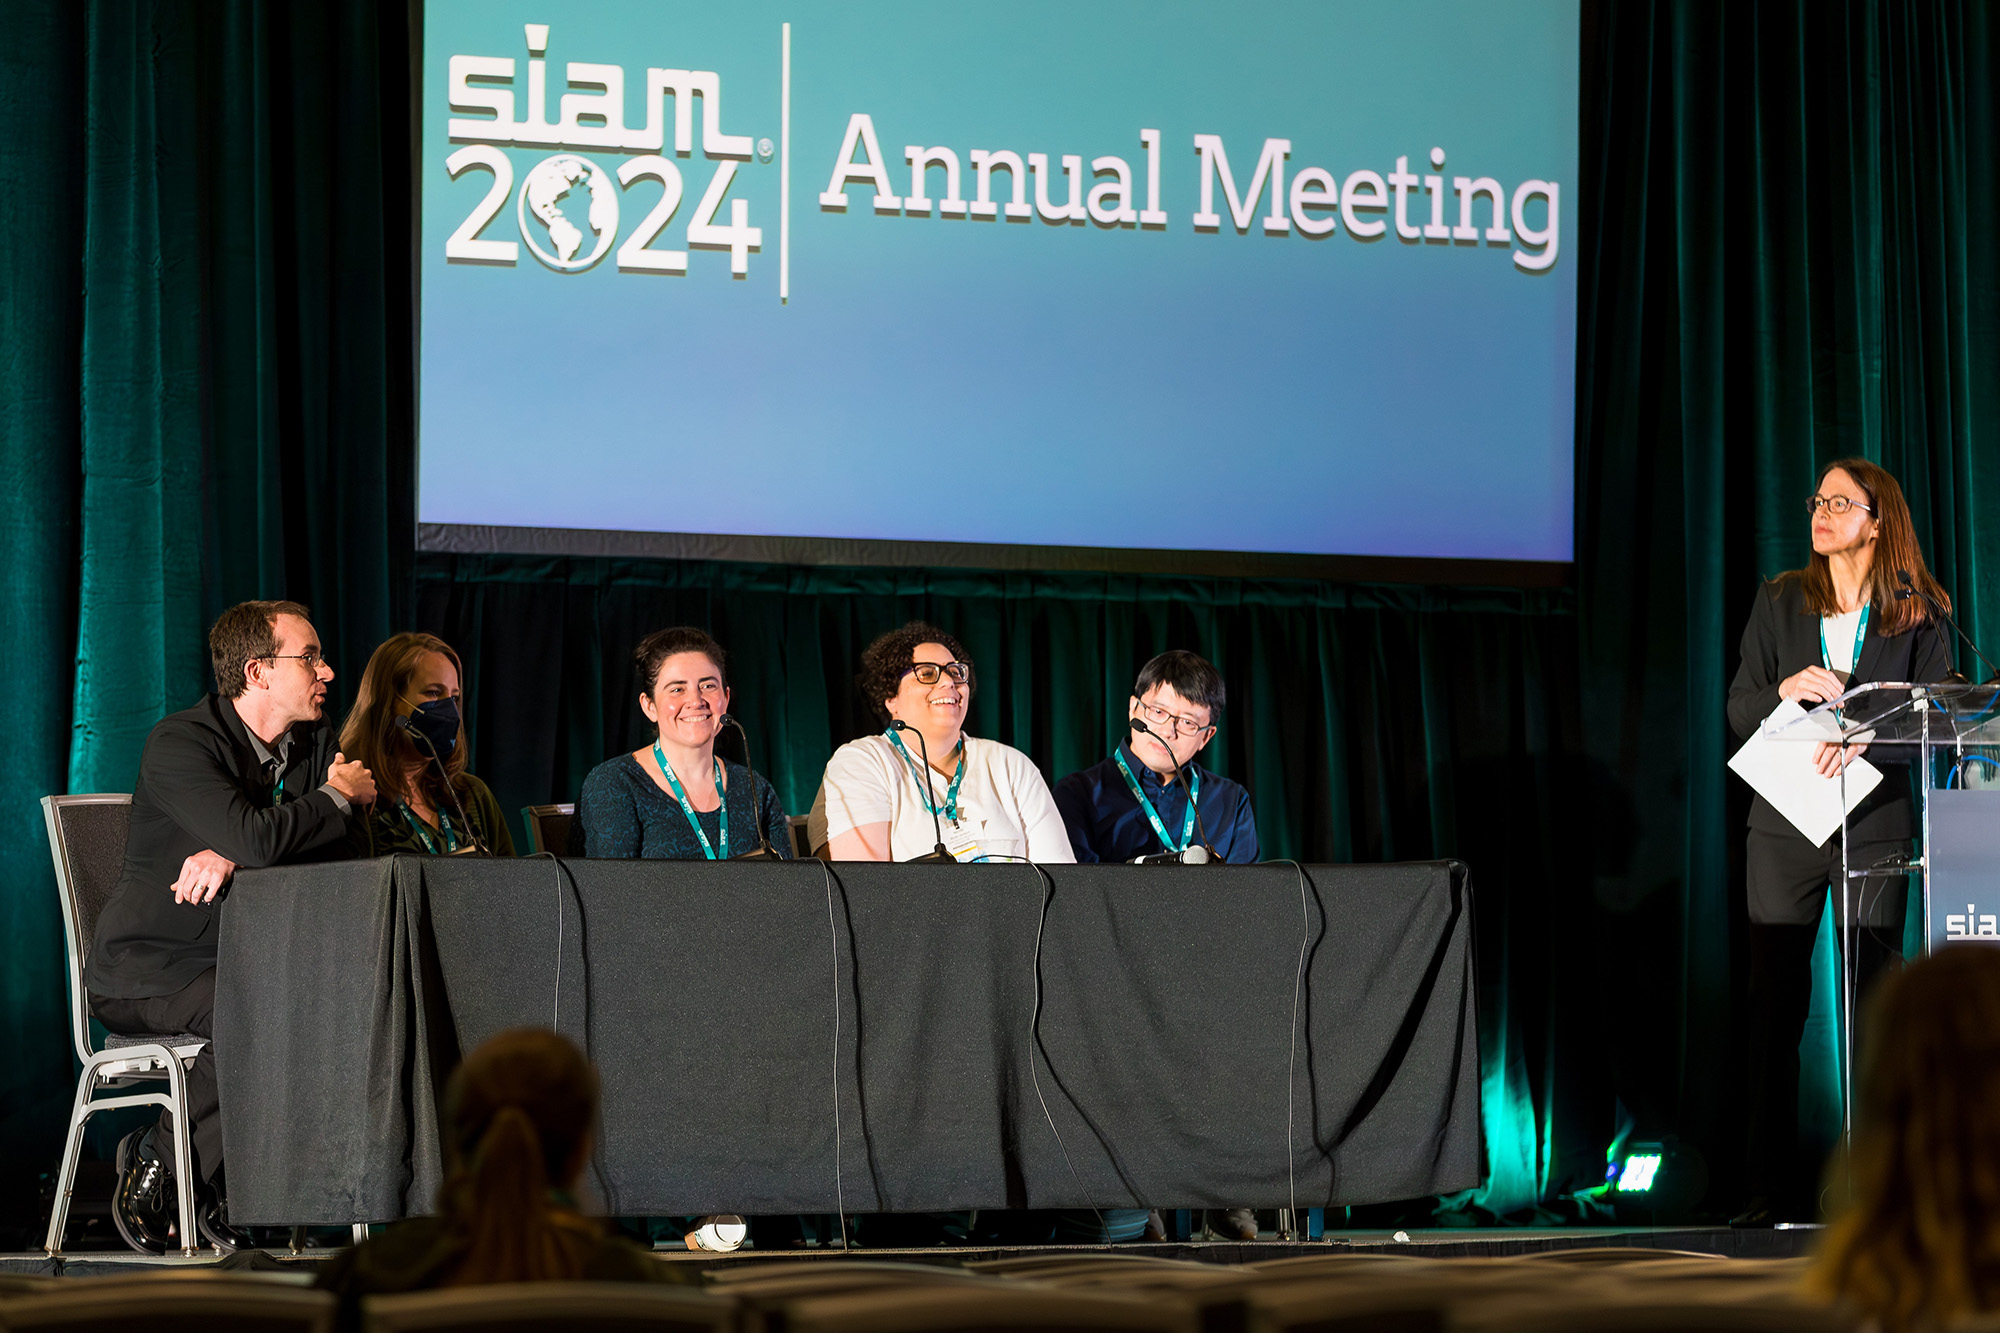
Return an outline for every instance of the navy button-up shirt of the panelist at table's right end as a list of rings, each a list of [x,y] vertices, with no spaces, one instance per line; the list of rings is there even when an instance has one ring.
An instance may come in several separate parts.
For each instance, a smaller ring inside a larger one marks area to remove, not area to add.
[[[1146,767],[1132,753],[1130,741],[1118,743],[1140,791],[1152,801],[1160,823],[1172,837],[1180,837],[1180,827],[1188,819],[1188,793],[1180,783],[1162,783],[1160,775]],[[1202,775],[1202,831],[1214,845],[1216,855],[1234,865],[1250,865],[1258,859],[1256,821],[1250,817],[1250,793],[1240,783],[1232,783],[1220,773],[1210,773],[1200,765],[1186,765],[1188,773]],[[1116,759],[1092,765],[1082,773],[1056,783],[1056,809],[1070,831],[1070,847],[1078,861],[1130,861],[1132,857],[1152,857],[1172,851],[1160,843],[1146,811],[1132,799]],[[1194,835],[1202,841],[1202,833]]]

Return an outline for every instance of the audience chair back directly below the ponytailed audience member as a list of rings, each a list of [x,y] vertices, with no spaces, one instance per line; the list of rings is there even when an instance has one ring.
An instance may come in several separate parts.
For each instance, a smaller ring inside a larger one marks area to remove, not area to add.
[[[482,1329],[556,1333],[730,1333],[736,1301],[664,1283],[494,1283],[362,1299],[368,1333]]]

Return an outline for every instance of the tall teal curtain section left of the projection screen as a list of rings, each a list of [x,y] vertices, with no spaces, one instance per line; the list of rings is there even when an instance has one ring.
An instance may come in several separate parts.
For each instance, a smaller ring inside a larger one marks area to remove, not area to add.
[[[408,112],[400,4],[8,10],[4,1221],[74,1089],[36,801],[132,789],[224,604],[308,600],[336,648],[406,614]]]

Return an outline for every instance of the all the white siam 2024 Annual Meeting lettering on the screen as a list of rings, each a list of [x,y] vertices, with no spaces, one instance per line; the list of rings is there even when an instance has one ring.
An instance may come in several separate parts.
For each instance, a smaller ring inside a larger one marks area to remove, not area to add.
[[[640,182],[658,182],[660,200],[640,218],[616,248],[620,272],[686,274],[688,250],[670,250],[662,234],[680,212],[688,182],[676,158],[694,152],[694,112],[702,112],[702,158],[712,162],[700,202],[688,214],[688,248],[724,250],[730,274],[750,272],[750,252],[764,244],[764,230],[750,226],[750,204],[728,198],[738,162],[752,154],[770,162],[778,154],[778,298],[790,290],[790,158],[792,158],[792,30],[782,26],[780,144],[768,138],[722,130],[722,76],[714,70],[648,68],[644,80],[644,126],[626,126],[626,70],[618,64],[564,64],[564,92],[556,118],[548,118],[548,24],[524,24],[528,38],[526,88],[516,82],[512,56],[450,56],[446,100],[454,112],[448,136],[454,150],[444,168],[458,180],[472,168],[492,172],[492,186],[472,206],[444,242],[444,258],[454,264],[518,264],[520,246],[556,272],[582,272],[612,250],[620,234],[624,192]],[[672,156],[668,156],[668,104],[672,102]],[[1154,124],[1160,124],[1154,120]],[[832,142],[828,138],[828,142]],[[1162,132],[1138,128],[1138,166],[1106,152],[1016,152],[1012,148],[970,148],[962,160],[956,148],[914,142],[902,150],[908,164],[908,194],[898,194],[892,162],[882,152],[874,116],[852,110],[834,154],[820,212],[846,214],[848,188],[872,190],[874,216],[964,218],[1082,232],[1094,224],[1102,232],[1158,232],[1172,224],[1162,202],[1164,180],[1174,172],[1162,160]],[[1186,140],[1184,140],[1186,142]],[[894,144],[894,140],[890,140]],[[514,158],[506,148],[554,148],[514,184]],[[1220,134],[1192,136],[1194,162],[1178,184],[1184,214],[1198,236],[1260,236],[1254,244],[1282,244],[1284,238],[1324,240],[1336,230],[1370,242],[1388,234],[1420,250],[1464,250],[1512,256],[1522,274],[1546,274],[1562,252],[1562,186],[1556,180],[1522,178],[1510,184],[1496,176],[1446,174],[1446,150],[1432,144],[1430,172],[1410,170],[1410,146],[1378,146],[1374,162],[1348,162],[1344,176],[1328,166],[1292,162],[1290,136],[1266,136],[1254,166],[1238,144],[1236,170]],[[1300,140],[1306,148],[1306,140]],[[584,156],[590,150],[620,154],[616,170]],[[1122,152],[1130,152],[1126,146]],[[1372,154],[1368,154],[1372,156]],[[1088,168],[1086,168],[1088,162]],[[1392,162],[1392,166],[1390,166]],[[1376,170],[1388,166],[1386,172]],[[1244,170],[1248,168],[1248,170]],[[690,162],[690,170],[694,164]],[[942,176],[944,194],[930,196]],[[1004,180],[1002,180],[1004,176]],[[1238,190],[1238,178],[1244,188]],[[1290,176],[1290,180],[1288,180]],[[1032,180],[1032,188],[1030,188]],[[1062,186],[1058,186],[1062,182]],[[972,198],[964,198],[970,186]],[[1000,198],[996,198],[996,192]],[[1012,198],[1008,198],[1010,194]],[[1030,204],[1028,198],[1034,198]],[[1144,206],[1140,208],[1140,200]],[[1260,200],[1268,212],[1258,218]],[[500,214],[512,202],[520,240],[504,240]],[[718,222],[728,202],[728,222]],[[1226,210],[1222,208],[1226,204]],[[1004,222],[1002,222],[1004,220]],[[1484,226],[1482,226],[1484,222]],[[500,234],[488,236],[488,230]],[[1296,240],[1292,242],[1296,244]],[[1304,258],[1304,256],[1300,256]]]

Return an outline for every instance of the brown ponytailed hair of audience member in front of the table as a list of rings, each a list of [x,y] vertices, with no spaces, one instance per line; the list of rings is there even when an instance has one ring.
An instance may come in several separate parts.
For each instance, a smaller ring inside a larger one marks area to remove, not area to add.
[[[488,1037],[452,1073],[444,1111],[438,1211],[466,1255],[444,1285],[582,1277],[600,1237],[568,1199],[598,1117],[584,1053],[542,1027]]]

